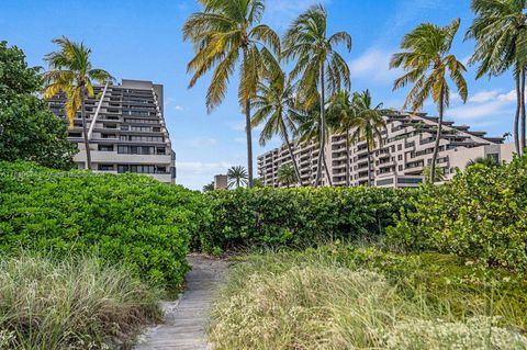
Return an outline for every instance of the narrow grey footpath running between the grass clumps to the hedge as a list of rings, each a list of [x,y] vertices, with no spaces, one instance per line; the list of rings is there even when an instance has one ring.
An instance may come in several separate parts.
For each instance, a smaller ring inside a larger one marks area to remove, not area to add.
[[[187,290],[176,302],[164,302],[165,323],[149,329],[135,350],[206,350],[205,327],[212,298],[227,263],[201,256],[188,258],[192,270]]]

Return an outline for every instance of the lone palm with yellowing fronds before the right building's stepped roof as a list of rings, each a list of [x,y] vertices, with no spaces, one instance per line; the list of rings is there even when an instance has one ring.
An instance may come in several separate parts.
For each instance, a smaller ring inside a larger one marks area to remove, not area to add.
[[[463,64],[450,54],[453,37],[458,32],[461,20],[455,20],[447,26],[440,27],[431,23],[419,24],[406,34],[401,43],[405,52],[394,54],[390,68],[402,67],[406,74],[396,79],[393,90],[404,88],[410,82],[414,87],[406,97],[403,109],[412,108],[414,112],[421,110],[426,99],[433,98],[439,111],[439,121],[431,159],[431,183],[435,182],[437,155],[442,131],[442,116],[449,106],[450,88],[447,72],[456,84],[462,101],[467,101],[468,88],[463,74],[467,71]]]

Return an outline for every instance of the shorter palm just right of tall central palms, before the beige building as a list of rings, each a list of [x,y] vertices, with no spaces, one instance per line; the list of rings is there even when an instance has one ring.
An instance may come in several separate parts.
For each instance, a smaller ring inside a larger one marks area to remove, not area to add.
[[[389,112],[382,109],[382,103],[375,106],[371,105],[371,94],[369,90],[361,93],[354,93],[355,127],[352,139],[366,140],[368,149],[368,185],[373,182],[371,173],[371,151],[375,148],[375,140],[379,144],[382,140],[382,133],[386,129],[386,122],[383,116]]]

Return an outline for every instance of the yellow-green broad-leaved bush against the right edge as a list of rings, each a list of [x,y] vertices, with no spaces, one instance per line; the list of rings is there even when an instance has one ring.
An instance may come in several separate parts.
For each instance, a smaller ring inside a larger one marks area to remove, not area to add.
[[[442,187],[426,187],[389,229],[412,250],[437,250],[527,271],[527,156],[474,165]]]

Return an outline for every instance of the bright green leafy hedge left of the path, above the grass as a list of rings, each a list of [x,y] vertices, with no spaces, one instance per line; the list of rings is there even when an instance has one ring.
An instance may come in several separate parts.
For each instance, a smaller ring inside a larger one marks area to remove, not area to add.
[[[145,176],[0,162],[0,253],[92,251],[175,286],[188,271],[190,237],[206,217],[201,194]]]

